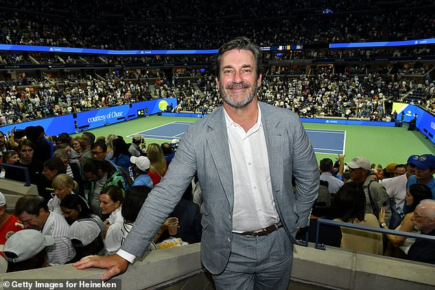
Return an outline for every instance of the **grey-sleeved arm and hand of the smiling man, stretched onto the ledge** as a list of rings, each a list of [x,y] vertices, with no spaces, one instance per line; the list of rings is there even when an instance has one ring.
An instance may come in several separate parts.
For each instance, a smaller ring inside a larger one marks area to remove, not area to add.
[[[108,280],[126,271],[129,257],[143,256],[156,232],[161,228],[169,213],[172,213],[196,173],[195,152],[192,149],[195,148],[192,142],[194,135],[187,130],[183,136],[171,166],[161,182],[148,194],[136,221],[134,221],[134,226],[121,245],[121,250],[112,256],[82,258],[81,261],[73,264],[74,267],[77,269],[106,268],[108,271],[104,273],[102,280]],[[130,260],[131,262],[132,260]]]

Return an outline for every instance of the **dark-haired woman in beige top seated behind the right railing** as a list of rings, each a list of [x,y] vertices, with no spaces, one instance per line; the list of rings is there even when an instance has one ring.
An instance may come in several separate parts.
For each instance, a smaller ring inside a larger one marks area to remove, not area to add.
[[[379,228],[377,218],[371,213],[366,213],[366,194],[362,185],[356,182],[346,182],[338,190],[333,198],[331,213],[335,217],[334,221]],[[384,254],[381,234],[345,227],[341,230],[340,247],[357,252]]]

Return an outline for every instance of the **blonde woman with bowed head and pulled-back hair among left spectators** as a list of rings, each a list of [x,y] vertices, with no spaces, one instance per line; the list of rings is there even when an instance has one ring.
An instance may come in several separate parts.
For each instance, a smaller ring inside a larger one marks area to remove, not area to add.
[[[61,173],[54,178],[53,182],[51,182],[51,186],[54,188],[54,195],[47,203],[48,209],[63,215],[60,202],[62,202],[67,195],[75,194],[73,191],[78,191],[78,183],[68,174]]]

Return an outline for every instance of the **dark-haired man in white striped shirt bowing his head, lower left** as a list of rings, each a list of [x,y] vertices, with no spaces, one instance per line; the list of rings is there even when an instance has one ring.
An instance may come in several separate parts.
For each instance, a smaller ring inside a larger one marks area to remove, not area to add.
[[[54,237],[54,245],[47,247],[47,265],[62,265],[75,256],[75,250],[68,238],[67,220],[48,210],[47,202],[38,195],[20,197],[15,205],[15,215],[24,228],[40,230],[43,234]]]

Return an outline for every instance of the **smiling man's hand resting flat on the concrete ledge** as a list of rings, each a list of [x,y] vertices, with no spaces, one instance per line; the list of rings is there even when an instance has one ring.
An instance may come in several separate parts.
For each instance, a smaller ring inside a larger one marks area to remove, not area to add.
[[[73,263],[74,267],[82,270],[89,267],[106,268],[108,271],[101,276],[102,281],[107,281],[114,276],[124,273],[128,268],[128,261],[117,254],[112,256],[86,256]]]

